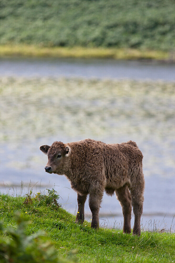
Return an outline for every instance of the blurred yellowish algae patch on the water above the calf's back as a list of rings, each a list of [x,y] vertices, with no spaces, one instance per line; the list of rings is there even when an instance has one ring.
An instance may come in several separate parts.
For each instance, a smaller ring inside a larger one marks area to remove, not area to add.
[[[0,141],[65,134],[174,137],[175,83],[0,78]]]

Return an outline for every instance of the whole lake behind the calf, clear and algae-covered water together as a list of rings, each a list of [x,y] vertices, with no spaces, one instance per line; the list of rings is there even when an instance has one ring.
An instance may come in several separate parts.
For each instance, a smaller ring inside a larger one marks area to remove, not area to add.
[[[0,191],[19,194],[21,181],[27,186],[31,181],[34,193],[55,185],[60,203],[74,214],[76,193],[64,176],[48,177],[47,156],[39,146],[84,138],[133,140],[144,156],[142,226],[174,229],[174,70],[174,65],[132,61],[1,59]],[[90,220],[88,201],[85,211]],[[121,227],[122,210],[115,196],[104,194],[100,217],[102,226]]]

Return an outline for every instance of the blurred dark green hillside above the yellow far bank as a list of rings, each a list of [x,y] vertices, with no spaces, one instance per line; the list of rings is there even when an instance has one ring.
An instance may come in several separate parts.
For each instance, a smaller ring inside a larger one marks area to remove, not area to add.
[[[1,0],[0,44],[172,50],[173,0]]]

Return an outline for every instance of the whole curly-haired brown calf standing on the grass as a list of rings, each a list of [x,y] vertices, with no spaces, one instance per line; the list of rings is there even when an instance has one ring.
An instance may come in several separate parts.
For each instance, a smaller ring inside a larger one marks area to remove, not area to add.
[[[133,235],[140,235],[145,181],[143,155],[135,142],[106,144],[85,139],[64,144],[55,141],[51,146],[40,146],[40,150],[48,155],[45,171],[50,174],[64,174],[70,181],[71,188],[77,192],[77,223],[84,222],[84,204],[89,194],[91,227],[98,228],[104,191],[111,196],[115,192],[123,211],[123,233],[131,233],[133,206]]]

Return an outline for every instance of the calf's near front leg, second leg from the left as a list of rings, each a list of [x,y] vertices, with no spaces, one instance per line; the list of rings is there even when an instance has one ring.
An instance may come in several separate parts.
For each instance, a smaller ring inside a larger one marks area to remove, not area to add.
[[[92,228],[99,228],[99,210],[100,210],[100,203],[103,197],[103,193],[100,194],[92,194],[89,195],[89,208],[92,213],[92,221],[91,227]]]

